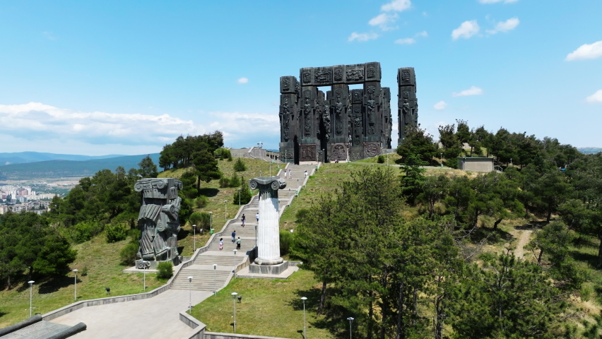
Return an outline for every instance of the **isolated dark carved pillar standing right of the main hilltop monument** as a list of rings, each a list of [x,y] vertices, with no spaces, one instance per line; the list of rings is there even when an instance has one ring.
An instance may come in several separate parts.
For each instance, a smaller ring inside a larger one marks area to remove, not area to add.
[[[406,67],[397,70],[397,86],[399,98],[397,102],[397,121],[399,128],[399,139],[397,144],[401,144],[403,138],[406,138],[406,128],[408,126],[418,126],[418,99],[416,98],[416,74],[413,67]]]

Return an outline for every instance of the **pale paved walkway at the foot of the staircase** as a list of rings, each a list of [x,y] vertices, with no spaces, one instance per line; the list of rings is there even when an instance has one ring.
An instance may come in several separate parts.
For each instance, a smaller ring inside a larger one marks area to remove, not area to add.
[[[192,304],[212,294],[192,291]],[[85,323],[85,331],[69,337],[75,339],[179,339],[192,331],[179,320],[179,312],[188,309],[188,304],[187,290],[167,290],[149,299],[83,307],[52,322],[69,326]]]

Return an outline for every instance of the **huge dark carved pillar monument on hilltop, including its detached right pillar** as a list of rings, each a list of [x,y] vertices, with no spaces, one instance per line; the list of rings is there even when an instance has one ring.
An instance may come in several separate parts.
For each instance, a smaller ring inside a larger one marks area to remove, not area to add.
[[[381,87],[381,73],[378,62],[367,62],[302,68],[298,81],[281,77],[281,160],[354,161],[391,148],[391,90]],[[349,88],[355,84],[363,88]],[[398,85],[401,141],[403,126],[418,119],[414,69],[399,69]]]

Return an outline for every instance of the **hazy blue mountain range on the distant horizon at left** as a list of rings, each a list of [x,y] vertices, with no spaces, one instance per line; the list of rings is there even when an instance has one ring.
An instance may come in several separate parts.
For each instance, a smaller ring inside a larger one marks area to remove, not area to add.
[[[44,156],[64,156],[52,153],[34,153]],[[22,154],[22,153],[0,153]],[[159,164],[159,153],[150,154],[155,165]],[[35,159],[33,157],[32,159]],[[87,155],[66,155],[67,157],[81,157],[83,160],[46,160],[30,161],[18,164],[0,166],[0,179],[3,180],[23,180],[23,179],[41,179],[41,178],[61,178],[61,177],[90,177],[101,169],[110,169],[114,171],[121,166],[127,171],[130,168],[138,168],[140,162],[146,154],[143,155],[104,155],[100,157],[88,157]],[[86,160],[85,158],[92,158]],[[23,158],[23,157],[21,157]],[[71,158],[73,159],[73,158]]]

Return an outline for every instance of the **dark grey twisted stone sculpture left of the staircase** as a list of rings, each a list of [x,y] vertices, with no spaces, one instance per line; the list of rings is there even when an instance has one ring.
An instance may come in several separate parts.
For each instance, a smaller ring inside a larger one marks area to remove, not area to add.
[[[136,268],[154,267],[158,261],[179,264],[177,233],[182,198],[177,195],[178,189],[182,189],[182,182],[172,178],[141,179],[134,185],[134,191],[142,192]]]

